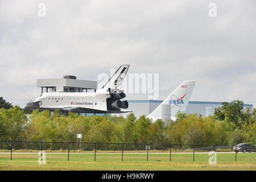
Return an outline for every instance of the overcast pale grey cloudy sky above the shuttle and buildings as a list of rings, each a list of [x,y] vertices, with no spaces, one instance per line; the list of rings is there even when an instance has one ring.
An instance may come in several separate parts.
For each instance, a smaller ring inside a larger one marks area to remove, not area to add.
[[[209,16],[209,4],[217,16]],[[39,16],[39,3],[46,16]],[[256,2],[0,0],[0,96],[14,105],[40,95],[37,78],[159,73],[159,100],[196,80],[191,101],[254,102]],[[147,99],[129,94],[129,99]]]

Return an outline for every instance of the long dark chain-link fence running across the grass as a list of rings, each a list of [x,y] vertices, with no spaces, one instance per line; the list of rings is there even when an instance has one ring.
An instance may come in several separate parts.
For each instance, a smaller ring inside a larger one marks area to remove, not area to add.
[[[208,162],[210,155],[220,162],[256,162],[234,152],[234,146],[192,144],[29,142],[0,141],[0,160],[34,160],[46,152],[47,160],[125,161],[125,162]],[[236,146],[235,146],[236,147]],[[218,156],[216,156],[218,154]],[[221,154],[221,155],[220,155]]]

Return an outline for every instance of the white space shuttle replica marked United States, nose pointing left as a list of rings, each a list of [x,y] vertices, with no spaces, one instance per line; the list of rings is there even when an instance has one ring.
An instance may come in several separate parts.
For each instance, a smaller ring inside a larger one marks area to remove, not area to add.
[[[47,92],[27,104],[28,109],[74,113],[127,113],[129,104],[123,90],[118,89],[130,65],[121,65],[109,81],[97,92]],[[125,109],[125,110],[123,110]]]

